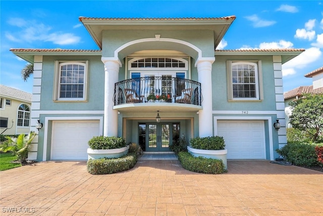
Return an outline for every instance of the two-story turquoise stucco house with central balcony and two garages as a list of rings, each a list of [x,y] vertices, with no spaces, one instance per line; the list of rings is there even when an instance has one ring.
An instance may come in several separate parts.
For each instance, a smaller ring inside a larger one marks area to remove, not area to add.
[[[98,135],[154,152],[219,135],[229,159],[279,156],[282,64],[303,49],[215,50],[235,16],[79,20],[99,50],[11,49],[34,63],[31,126],[43,127],[29,159],[87,159]]]

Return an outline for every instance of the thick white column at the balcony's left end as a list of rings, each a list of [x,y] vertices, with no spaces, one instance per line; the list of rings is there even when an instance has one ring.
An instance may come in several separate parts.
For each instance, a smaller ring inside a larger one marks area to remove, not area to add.
[[[115,93],[115,83],[118,82],[120,63],[115,60],[105,60],[104,63],[104,117],[103,136],[118,136],[118,111],[113,109],[113,95]]]

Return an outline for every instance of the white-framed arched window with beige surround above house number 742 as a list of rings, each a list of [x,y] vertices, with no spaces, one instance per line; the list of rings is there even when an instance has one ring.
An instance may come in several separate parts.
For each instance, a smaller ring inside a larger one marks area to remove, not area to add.
[[[263,100],[261,61],[227,61],[228,100]]]

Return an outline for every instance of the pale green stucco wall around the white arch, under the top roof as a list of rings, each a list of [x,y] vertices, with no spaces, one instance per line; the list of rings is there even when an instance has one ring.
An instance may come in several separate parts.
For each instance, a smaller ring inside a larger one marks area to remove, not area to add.
[[[127,42],[142,39],[155,38],[155,34],[160,34],[160,38],[173,38],[189,42],[202,51],[202,57],[214,56],[214,40],[212,30],[104,30],[102,33],[102,56],[114,57],[115,50]],[[127,55],[140,50],[174,50],[196,58],[196,53],[187,46],[174,44],[174,42],[153,41],[142,42],[132,45],[119,53],[119,58],[123,59]]]

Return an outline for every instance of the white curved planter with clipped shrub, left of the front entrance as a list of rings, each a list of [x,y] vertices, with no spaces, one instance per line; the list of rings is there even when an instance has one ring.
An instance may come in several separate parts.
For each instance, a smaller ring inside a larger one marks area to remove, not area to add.
[[[129,150],[125,139],[120,137],[93,137],[88,141],[88,145],[88,159],[118,158],[126,155]]]

